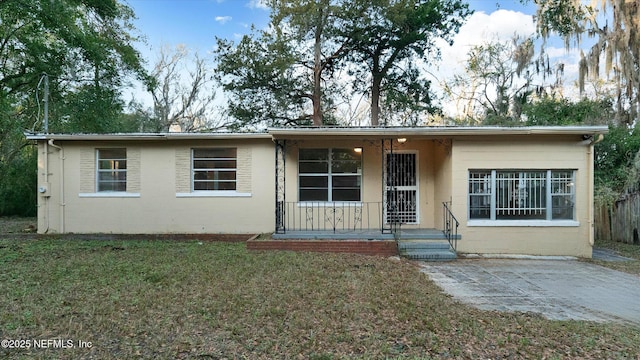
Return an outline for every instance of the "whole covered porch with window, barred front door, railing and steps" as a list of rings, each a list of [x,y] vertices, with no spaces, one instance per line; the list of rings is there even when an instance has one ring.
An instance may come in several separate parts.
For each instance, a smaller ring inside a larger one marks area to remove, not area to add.
[[[414,129],[415,130],[415,129]],[[406,128],[270,130],[277,241],[445,242],[455,251],[451,138]]]

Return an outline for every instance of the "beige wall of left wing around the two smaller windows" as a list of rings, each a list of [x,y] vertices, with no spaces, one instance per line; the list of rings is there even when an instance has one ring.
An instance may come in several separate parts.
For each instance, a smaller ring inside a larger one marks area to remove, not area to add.
[[[262,233],[275,223],[274,146],[269,139],[39,144],[40,233]],[[48,164],[45,164],[45,147]],[[127,193],[95,192],[95,149],[127,148]],[[237,148],[237,191],[191,193],[190,149]],[[186,155],[185,155],[186,154]],[[45,179],[45,166],[49,168]],[[64,186],[60,181],[64,172]],[[227,195],[227,196],[224,196]]]

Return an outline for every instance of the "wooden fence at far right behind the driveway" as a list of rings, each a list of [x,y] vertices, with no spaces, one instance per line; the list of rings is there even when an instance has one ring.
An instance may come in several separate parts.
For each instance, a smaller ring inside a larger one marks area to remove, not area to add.
[[[640,192],[625,195],[613,205],[596,205],[595,237],[628,244],[640,244]]]

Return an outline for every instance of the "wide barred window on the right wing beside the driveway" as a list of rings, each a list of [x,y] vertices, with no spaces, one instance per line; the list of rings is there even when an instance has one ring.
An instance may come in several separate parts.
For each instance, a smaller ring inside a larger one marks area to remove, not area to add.
[[[573,170],[471,170],[469,219],[574,220]]]

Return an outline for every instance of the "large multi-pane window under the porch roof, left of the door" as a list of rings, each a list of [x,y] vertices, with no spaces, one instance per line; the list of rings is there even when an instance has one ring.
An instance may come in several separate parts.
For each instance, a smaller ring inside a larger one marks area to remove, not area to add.
[[[354,149],[300,149],[300,201],[360,201],[362,152]]]

